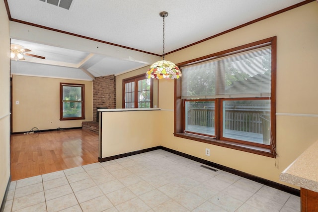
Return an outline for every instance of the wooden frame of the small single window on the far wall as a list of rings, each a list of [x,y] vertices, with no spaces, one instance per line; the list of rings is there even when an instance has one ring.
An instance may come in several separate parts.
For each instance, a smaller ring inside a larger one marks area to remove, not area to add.
[[[81,87],[81,117],[63,117],[63,86],[77,86]],[[79,120],[85,119],[85,85],[75,83],[60,83],[60,120]]]

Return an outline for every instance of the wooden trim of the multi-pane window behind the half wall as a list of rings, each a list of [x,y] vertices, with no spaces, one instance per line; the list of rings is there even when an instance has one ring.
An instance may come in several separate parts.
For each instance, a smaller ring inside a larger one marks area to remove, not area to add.
[[[123,79],[122,82],[122,108],[125,108],[125,84],[126,83],[131,83],[131,82],[135,82],[135,101],[134,101],[134,105],[135,108],[138,108],[138,81],[139,80],[145,80],[145,74],[141,74],[138,76],[134,76],[134,77],[130,77],[130,78],[126,78]],[[154,80],[150,79],[150,107],[153,107],[154,101],[153,101],[153,96],[154,96]]]

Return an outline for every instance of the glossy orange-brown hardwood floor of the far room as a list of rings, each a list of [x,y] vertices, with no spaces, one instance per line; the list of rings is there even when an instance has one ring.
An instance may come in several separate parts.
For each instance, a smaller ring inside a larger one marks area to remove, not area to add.
[[[11,180],[95,163],[98,134],[82,129],[11,135]]]

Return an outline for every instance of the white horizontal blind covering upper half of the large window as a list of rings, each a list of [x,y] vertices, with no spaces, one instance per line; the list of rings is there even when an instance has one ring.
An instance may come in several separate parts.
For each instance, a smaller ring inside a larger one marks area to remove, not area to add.
[[[183,99],[271,96],[271,47],[185,66]]]

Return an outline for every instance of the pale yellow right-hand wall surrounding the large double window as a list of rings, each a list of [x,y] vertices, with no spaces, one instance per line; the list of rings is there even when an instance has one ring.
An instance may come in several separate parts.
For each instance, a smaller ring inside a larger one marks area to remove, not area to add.
[[[159,81],[161,145],[280,184],[280,173],[318,140],[318,3],[313,1],[165,55],[174,63],[277,36],[277,158],[173,136],[174,83]],[[300,114],[300,115],[299,115]],[[211,156],[205,156],[210,148]],[[288,185],[290,187],[295,187]]]

